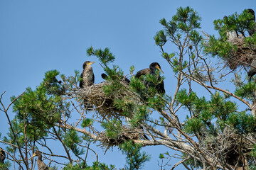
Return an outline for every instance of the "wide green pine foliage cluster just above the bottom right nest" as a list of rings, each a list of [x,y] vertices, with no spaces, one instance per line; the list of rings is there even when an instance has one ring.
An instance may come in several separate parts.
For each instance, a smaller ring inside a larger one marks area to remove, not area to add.
[[[198,98],[196,93],[191,91],[189,94],[186,89],[182,89],[177,94],[177,101],[188,108],[193,118],[187,118],[184,130],[195,134],[200,133],[202,128],[207,128],[210,134],[215,135],[218,130],[224,128],[228,123],[228,117],[235,113],[237,106],[227,98],[220,96],[219,93],[211,96],[210,101],[206,98]],[[212,125],[216,120],[217,127]]]

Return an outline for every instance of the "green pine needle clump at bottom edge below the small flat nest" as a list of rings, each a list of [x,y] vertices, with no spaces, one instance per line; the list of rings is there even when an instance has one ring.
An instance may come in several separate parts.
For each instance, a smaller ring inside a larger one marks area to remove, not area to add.
[[[142,169],[143,164],[149,161],[150,157],[145,152],[140,152],[141,145],[133,143],[131,140],[119,146],[123,154],[126,154],[126,165],[124,169]]]

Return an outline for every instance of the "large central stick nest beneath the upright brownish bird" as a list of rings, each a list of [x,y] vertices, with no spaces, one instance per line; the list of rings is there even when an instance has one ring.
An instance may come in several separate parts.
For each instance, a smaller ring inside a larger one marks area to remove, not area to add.
[[[110,85],[111,82],[103,81],[100,84],[94,84],[88,86],[84,89],[78,89],[78,98],[80,98],[80,103],[83,105],[83,100],[85,99],[89,105],[94,106],[93,111],[97,111],[98,114],[105,118],[124,118],[122,109],[119,109],[114,106],[114,100],[124,99],[132,101],[132,103],[139,103],[139,98],[132,94],[132,91],[129,91],[129,86],[124,82],[120,81],[120,84],[124,88],[115,89],[115,91],[106,95],[103,91],[104,86]],[[125,115],[125,117],[129,117]]]

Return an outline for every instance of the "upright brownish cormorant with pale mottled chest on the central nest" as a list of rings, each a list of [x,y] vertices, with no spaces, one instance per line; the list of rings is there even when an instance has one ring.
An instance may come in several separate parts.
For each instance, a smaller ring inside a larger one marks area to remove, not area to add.
[[[94,84],[95,82],[95,75],[93,74],[93,70],[92,70],[92,66],[91,64],[93,64],[95,62],[84,62],[84,64],[82,64],[82,74],[80,75],[80,77],[82,78],[82,80],[79,83],[79,86],[81,89],[85,89],[88,86],[92,86],[92,84]],[[83,101],[85,109],[87,110],[92,110],[93,106],[90,105],[90,103],[87,102],[86,99],[84,99]]]

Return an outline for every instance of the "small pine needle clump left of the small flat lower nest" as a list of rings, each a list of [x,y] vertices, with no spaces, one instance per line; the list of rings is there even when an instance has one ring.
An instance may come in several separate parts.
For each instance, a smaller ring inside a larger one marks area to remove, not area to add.
[[[82,140],[78,136],[78,132],[75,129],[72,128],[65,133],[64,142],[65,145],[69,147],[75,155],[84,153],[83,149],[78,148],[78,144],[80,144]]]

